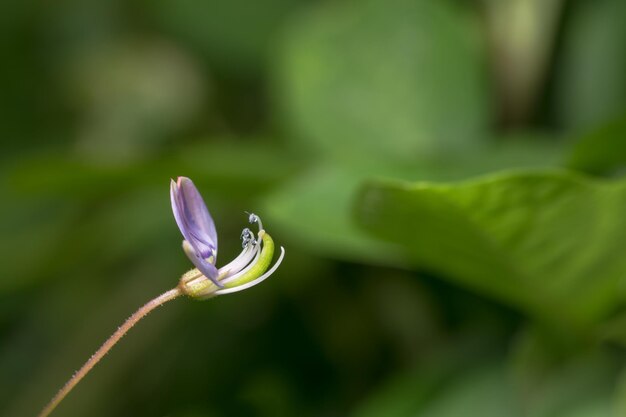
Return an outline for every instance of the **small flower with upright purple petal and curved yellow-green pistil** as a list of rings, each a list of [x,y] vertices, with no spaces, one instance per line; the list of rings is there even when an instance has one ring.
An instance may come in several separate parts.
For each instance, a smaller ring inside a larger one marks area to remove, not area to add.
[[[256,237],[250,229],[243,229],[243,250],[233,261],[218,269],[215,266],[215,223],[196,186],[189,178],[179,177],[171,182],[170,196],[174,218],[184,238],[183,250],[196,267],[180,279],[179,288],[184,294],[204,299],[245,290],[272,275],[282,262],[285,255],[283,247],[278,260],[270,268],[274,241],[263,229],[259,216],[248,214],[249,222],[259,227]]]

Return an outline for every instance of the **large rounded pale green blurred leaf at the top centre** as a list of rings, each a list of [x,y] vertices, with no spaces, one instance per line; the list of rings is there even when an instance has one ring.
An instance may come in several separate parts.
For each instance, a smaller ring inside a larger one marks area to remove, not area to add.
[[[283,110],[297,135],[342,158],[475,147],[489,124],[476,23],[449,1],[322,4],[285,33]]]

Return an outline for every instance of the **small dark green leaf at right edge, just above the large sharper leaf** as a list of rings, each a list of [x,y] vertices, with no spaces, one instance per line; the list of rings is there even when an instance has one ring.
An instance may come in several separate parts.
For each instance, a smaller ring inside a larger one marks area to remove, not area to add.
[[[626,113],[583,136],[572,149],[567,166],[593,173],[620,172],[626,165]]]

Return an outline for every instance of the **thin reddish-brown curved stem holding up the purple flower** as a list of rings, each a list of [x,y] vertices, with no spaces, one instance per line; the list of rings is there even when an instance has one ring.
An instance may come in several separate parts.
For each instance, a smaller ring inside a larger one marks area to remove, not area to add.
[[[50,402],[39,413],[38,417],[47,417],[54,411],[61,401],[72,391],[72,389],[91,371],[91,369],[102,359],[113,346],[135,325],[139,320],[144,318],[155,308],[165,304],[182,295],[178,288],[171,289],[164,292],[153,300],[148,301],[132,316],[126,319],[107,340],[100,346],[100,348],[94,353],[85,364],[80,368],[70,379],[65,383],[63,388],[50,400]]]

